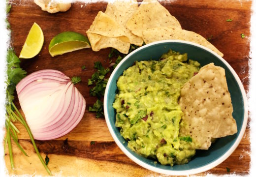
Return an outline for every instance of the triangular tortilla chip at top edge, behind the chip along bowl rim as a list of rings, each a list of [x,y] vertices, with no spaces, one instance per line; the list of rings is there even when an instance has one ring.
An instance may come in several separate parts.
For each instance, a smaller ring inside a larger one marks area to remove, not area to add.
[[[126,26],[133,34],[139,37],[142,37],[143,30],[155,27],[171,26],[181,29],[178,20],[157,0],[143,0],[137,12],[128,20]]]

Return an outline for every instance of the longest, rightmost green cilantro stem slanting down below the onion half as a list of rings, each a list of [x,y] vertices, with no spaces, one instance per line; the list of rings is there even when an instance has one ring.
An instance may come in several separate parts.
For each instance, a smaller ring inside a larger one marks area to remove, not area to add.
[[[39,157],[41,163],[43,164],[45,170],[47,171],[47,173],[48,173],[50,176],[52,176],[52,172],[50,171],[50,169],[49,169],[49,168],[47,167],[47,165],[45,164],[45,161],[43,160],[43,158],[42,158],[40,152],[38,151],[38,149],[37,149],[37,147],[36,147],[36,145],[35,145],[32,132],[31,132],[29,126],[27,125],[27,122],[26,122],[25,119],[22,117],[22,115],[20,114],[19,110],[16,108],[16,106],[14,105],[13,102],[11,103],[11,105],[13,106],[13,108],[15,109],[15,111],[17,112],[17,114],[19,115],[19,117],[21,118],[21,120],[23,121],[24,126],[25,126],[25,128],[27,129],[27,131],[28,131],[28,133],[29,133],[29,136],[30,136],[30,139],[31,139],[31,141],[32,141],[34,150],[35,150],[37,156]]]

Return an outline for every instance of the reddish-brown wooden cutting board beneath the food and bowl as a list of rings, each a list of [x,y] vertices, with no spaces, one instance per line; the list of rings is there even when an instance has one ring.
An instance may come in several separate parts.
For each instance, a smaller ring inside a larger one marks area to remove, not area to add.
[[[248,60],[250,50],[250,18],[252,1],[247,0],[175,0],[163,4],[175,16],[183,29],[192,30],[208,38],[222,53],[224,59],[234,68],[244,88],[248,91]],[[86,35],[98,11],[105,11],[106,2],[74,3],[64,13],[49,14],[29,0],[13,0],[8,16],[11,25],[11,44],[17,55],[36,22],[44,33],[45,42],[39,55],[22,60],[21,67],[28,74],[40,69],[57,69],[67,76],[80,76],[82,82],[77,89],[84,95],[87,110],[81,122],[64,137],[51,141],[36,141],[43,158],[50,158],[49,168],[54,175],[62,176],[159,176],[131,161],[115,144],[104,118],[96,118],[88,112],[96,97],[89,95],[87,80],[95,72],[94,62],[109,65],[110,49],[93,52],[84,49],[52,58],[48,52],[50,40],[63,31],[76,31]],[[233,19],[226,22],[226,19]],[[241,38],[244,33],[246,37]],[[86,70],[82,71],[81,66]],[[16,100],[16,105],[18,101]],[[250,122],[250,118],[249,118]],[[16,124],[21,133],[20,144],[30,157],[25,157],[13,144],[15,170],[10,169],[6,151],[5,162],[10,174],[47,175],[37,158],[26,130]],[[249,125],[249,124],[248,124]],[[246,132],[238,148],[222,164],[205,174],[248,174],[250,164],[250,129]],[[67,139],[67,140],[66,140]],[[65,141],[66,140],[66,141]],[[94,141],[95,144],[91,145]],[[7,149],[7,148],[6,148]],[[230,169],[228,173],[226,167]]]

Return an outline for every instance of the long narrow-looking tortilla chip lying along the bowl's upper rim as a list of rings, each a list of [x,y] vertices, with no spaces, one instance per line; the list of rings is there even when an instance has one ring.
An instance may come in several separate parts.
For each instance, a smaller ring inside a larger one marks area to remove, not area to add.
[[[157,27],[157,28],[147,29],[143,31],[142,38],[146,44],[149,44],[155,41],[160,41],[160,40],[168,40],[168,39],[190,41],[211,49],[221,57],[224,56],[223,53],[221,53],[216,47],[214,47],[214,45],[212,45],[203,36],[193,31],[188,31],[185,29],[178,29],[173,27]]]

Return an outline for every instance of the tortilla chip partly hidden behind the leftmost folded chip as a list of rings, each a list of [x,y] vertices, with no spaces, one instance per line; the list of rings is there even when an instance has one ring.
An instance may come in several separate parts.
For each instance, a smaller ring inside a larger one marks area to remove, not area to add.
[[[117,23],[125,28],[125,32],[131,44],[142,46],[143,39],[131,33],[126,27],[127,21],[138,10],[137,0],[119,1],[108,3],[105,14],[113,18]]]

